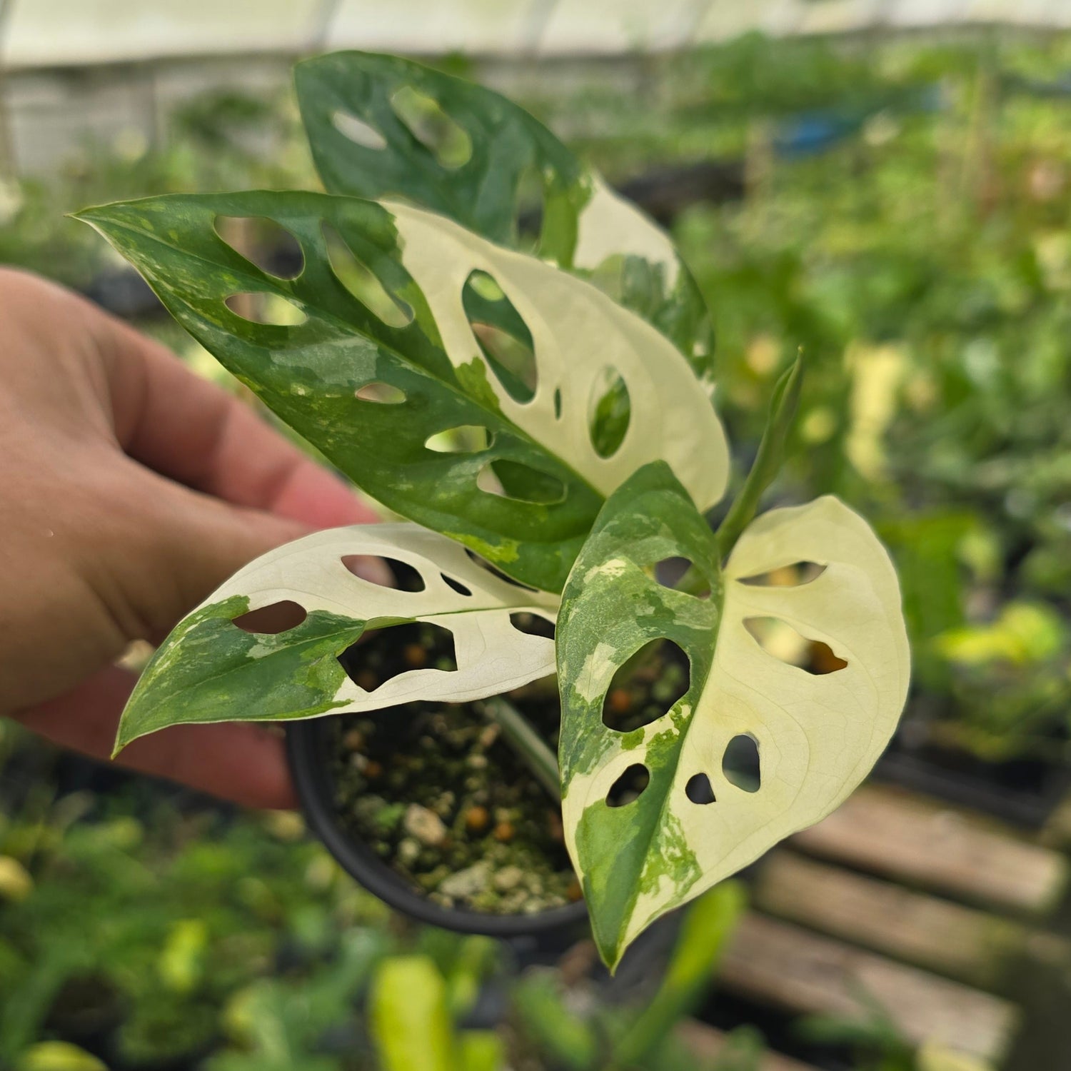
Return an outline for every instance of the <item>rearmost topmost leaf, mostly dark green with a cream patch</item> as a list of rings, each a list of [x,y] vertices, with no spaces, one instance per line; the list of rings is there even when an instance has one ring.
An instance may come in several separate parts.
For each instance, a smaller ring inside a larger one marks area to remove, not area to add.
[[[331,193],[401,196],[514,247],[526,242],[518,222],[538,207],[539,255],[654,325],[712,388],[710,315],[669,238],[523,108],[371,52],[305,60],[295,80]]]

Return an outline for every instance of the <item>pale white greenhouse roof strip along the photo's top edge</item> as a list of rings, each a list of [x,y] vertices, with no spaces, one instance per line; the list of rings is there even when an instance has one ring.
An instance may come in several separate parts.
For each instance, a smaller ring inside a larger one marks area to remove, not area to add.
[[[365,48],[613,55],[749,30],[1071,27],[1069,0],[0,0],[7,70]]]

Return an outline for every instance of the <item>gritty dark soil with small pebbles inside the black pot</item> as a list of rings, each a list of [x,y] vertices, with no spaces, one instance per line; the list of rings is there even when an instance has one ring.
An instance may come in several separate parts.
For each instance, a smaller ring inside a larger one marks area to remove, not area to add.
[[[343,664],[366,689],[406,669],[449,672],[452,636],[435,625],[399,625],[351,648]],[[511,698],[556,749],[554,679]],[[580,899],[559,804],[478,707],[410,703],[332,721],[344,825],[428,900],[525,915]]]

